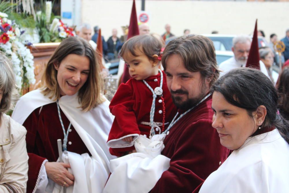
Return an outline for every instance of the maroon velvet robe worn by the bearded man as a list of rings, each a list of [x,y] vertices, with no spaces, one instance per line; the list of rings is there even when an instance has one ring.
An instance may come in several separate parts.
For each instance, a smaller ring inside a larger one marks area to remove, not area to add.
[[[227,158],[228,150],[221,145],[218,133],[212,127],[211,105],[212,96],[171,128],[162,151],[162,155],[171,159],[170,167],[151,193],[191,193],[218,169],[220,161],[223,163]]]

